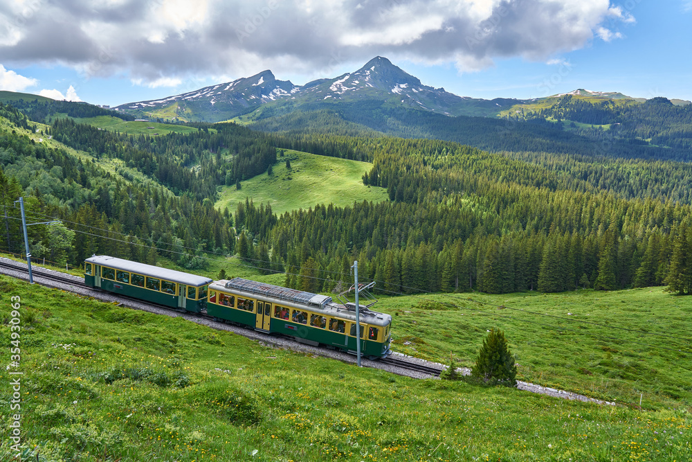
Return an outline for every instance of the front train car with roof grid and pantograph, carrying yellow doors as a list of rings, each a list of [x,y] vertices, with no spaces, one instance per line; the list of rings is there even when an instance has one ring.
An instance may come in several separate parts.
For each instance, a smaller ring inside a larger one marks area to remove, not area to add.
[[[234,278],[209,286],[207,314],[217,319],[277,332],[297,341],[356,353],[355,305],[330,296]],[[392,317],[361,307],[361,353],[376,358],[390,353]]]

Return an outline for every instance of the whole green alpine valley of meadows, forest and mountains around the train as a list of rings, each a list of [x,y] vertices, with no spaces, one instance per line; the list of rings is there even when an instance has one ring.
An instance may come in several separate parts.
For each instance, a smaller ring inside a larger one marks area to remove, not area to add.
[[[400,353],[473,367],[499,328],[518,379],[618,405],[354,370],[1,277],[25,307],[25,456],[689,459],[691,105],[471,100],[381,57],[223,85],[131,112],[0,94],[1,250],[24,251],[21,195],[59,221],[29,227],[32,257],[74,274],[108,254],[331,294],[358,260]]]

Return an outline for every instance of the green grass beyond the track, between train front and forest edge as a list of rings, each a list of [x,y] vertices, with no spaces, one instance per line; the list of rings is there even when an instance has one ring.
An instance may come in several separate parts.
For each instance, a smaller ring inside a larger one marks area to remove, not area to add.
[[[421,301],[451,305],[425,310]],[[692,300],[662,287],[434,294],[385,298],[377,308],[392,314],[402,353],[439,360],[451,352],[471,367],[486,331],[500,328],[520,380],[628,405],[641,398],[645,409],[692,407]]]

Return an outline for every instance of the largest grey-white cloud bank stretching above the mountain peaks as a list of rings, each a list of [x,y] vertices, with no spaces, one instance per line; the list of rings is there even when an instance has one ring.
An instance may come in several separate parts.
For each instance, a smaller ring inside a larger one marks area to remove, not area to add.
[[[6,64],[62,64],[152,88],[264,69],[316,73],[375,55],[459,69],[543,62],[619,39],[619,26],[635,22],[610,0],[61,0],[19,27],[15,3],[0,8],[0,37],[12,37],[0,39]]]

